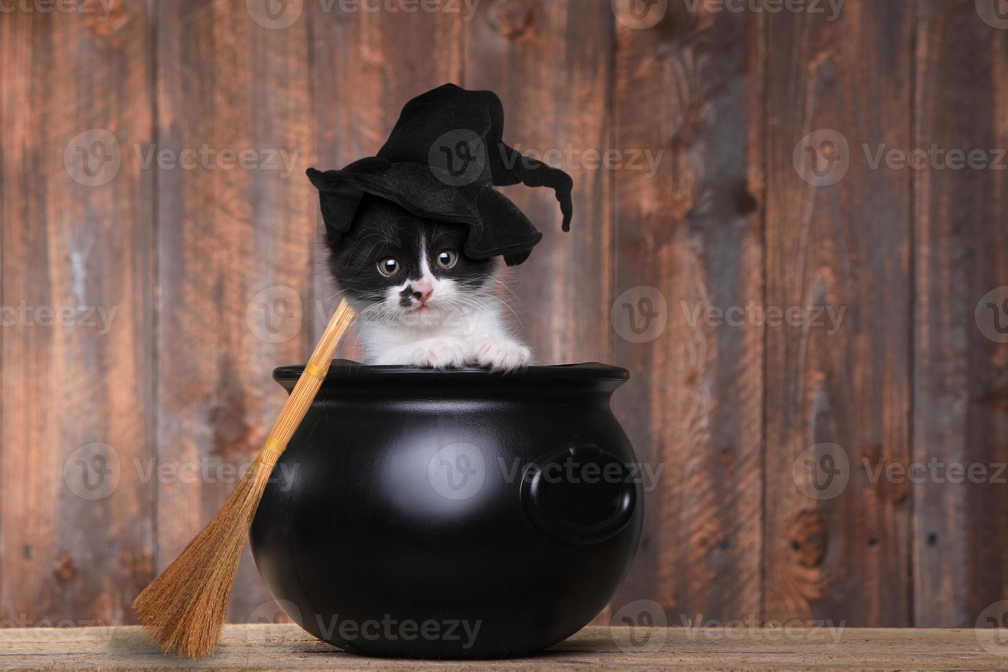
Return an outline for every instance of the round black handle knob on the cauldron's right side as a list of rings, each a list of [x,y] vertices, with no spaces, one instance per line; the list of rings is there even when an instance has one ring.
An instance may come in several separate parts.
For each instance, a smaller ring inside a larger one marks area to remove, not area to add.
[[[632,472],[594,443],[566,443],[529,464],[521,499],[532,524],[568,543],[592,545],[618,534],[633,518]]]

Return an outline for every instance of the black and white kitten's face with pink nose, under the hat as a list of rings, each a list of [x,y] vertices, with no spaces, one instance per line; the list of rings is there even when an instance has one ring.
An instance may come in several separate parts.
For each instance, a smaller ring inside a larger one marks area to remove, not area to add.
[[[464,225],[365,197],[350,231],[333,246],[333,273],[362,316],[434,325],[474,308],[474,299],[489,290],[495,264],[467,257],[465,242]]]

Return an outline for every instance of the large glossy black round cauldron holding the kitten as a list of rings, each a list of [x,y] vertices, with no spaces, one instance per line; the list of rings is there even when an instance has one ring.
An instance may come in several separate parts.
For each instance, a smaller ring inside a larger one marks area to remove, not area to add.
[[[289,393],[302,367],[273,378]],[[601,364],[334,362],[252,527],[281,609],[348,651],[496,658],[587,625],[633,559],[636,458]]]

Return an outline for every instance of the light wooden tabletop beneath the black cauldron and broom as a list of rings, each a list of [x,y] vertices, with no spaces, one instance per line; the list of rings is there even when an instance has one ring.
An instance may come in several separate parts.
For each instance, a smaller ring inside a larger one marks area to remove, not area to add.
[[[631,634],[633,637],[631,638]],[[201,661],[161,655],[139,628],[0,629],[0,669],[310,670],[570,669],[996,670],[1008,669],[1008,638],[992,630],[586,628],[532,658],[402,661],[363,658],[292,625],[228,626],[218,653]]]

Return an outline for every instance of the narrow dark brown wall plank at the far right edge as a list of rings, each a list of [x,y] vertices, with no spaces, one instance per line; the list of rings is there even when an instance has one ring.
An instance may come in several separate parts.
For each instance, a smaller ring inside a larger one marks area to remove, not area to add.
[[[914,171],[913,459],[939,467],[913,488],[923,626],[973,626],[1008,598],[1008,21],[977,8],[924,0],[917,26],[913,142],[947,152]],[[975,167],[950,167],[954,150],[979,150]]]

